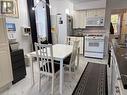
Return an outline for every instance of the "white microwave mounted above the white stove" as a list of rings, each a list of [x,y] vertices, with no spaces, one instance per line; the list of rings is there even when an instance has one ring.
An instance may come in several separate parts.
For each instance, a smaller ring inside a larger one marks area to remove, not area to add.
[[[104,17],[87,17],[86,26],[104,26]]]

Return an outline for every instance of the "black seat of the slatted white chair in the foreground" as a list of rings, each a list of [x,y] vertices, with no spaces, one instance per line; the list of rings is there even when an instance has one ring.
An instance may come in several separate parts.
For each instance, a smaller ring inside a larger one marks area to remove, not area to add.
[[[48,69],[48,65],[43,66],[44,68],[44,71],[46,71],[46,69]],[[43,68],[41,67],[40,70],[43,71]],[[52,66],[51,66],[51,63],[49,64],[49,70],[50,70],[50,73],[52,73]],[[60,64],[57,64],[57,63],[54,63],[54,73],[58,72],[60,70]]]

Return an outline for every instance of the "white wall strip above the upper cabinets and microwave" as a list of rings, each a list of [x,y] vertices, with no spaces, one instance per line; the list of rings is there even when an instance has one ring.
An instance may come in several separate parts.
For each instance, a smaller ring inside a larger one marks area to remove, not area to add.
[[[97,1],[89,1],[89,2],[81,2],[74,4],[74,10],[87,10],[87,9],[98,9],[105,8],[106,0],[97,0]]]

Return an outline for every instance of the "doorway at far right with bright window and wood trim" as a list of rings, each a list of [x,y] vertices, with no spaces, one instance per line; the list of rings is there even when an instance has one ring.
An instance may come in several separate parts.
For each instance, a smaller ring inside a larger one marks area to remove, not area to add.
[[[127,9],[116,9],[112,11],[111,23],[114,29],[115,38],[121,42],[125,41],[127,35]]]

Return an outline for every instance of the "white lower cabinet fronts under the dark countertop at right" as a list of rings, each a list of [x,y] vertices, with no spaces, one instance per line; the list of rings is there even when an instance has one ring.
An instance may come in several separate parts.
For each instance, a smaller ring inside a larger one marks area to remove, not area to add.
[[[121,76],[117,64],[117,60],[114,54],[114,50],[111,50],[111,95],[124,95]]]

